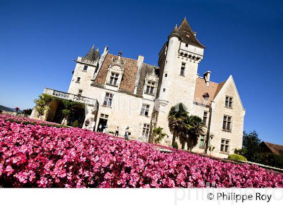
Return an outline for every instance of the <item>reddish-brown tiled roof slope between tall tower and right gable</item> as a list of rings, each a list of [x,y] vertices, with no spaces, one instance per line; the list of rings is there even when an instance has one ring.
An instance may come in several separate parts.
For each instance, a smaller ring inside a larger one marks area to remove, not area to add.
[[[209,86],[206,86],[206,82],[203,78],[197,78],[194,101],[195,102],[201,101],[201,104],[203,104],[205,100],[205,96],[207,96],[206,93],[208,93],[209,97],[208,97],[208,102],[206,105],[210,106],[211,101],[216,97],[216,95],[218,94],[220,89],[223,87],[225,82],[226,81],[223,81],[221,83],[215,83],[215,82],[210,81]]]

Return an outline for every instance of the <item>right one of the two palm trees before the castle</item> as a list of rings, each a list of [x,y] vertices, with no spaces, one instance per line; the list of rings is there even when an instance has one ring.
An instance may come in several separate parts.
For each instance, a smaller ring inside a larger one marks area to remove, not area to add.
[[[192,148],[197,145],[199,136],[203,133],[202,119],[198,116],[187,115],[179,136],[182,149],[184,149],[185,143],[187,143],[187,150],[192,150]]]

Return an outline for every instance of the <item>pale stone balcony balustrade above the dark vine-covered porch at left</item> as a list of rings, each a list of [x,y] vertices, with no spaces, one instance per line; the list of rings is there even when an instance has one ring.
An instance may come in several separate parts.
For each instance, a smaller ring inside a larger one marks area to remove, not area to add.
[[[72,101],[76,101],[76,102],[80,102],[80,103],[85,103],[87,105],[96,105],[97,103],[97,99],[95,98],[89,98],[89,97],[85,97],[85,96],[81,96],[81,95],[76,95],[76,94],[72,94],[72,93],[66,93],[66,92],[62,92],[59,90],[54,90],[54,89],[50,89],[50,88],[44,88],[44,92],[46,94],[55,96],[55,97],[59,97],[62,99],[66,99],[66,100],[72,100]]]

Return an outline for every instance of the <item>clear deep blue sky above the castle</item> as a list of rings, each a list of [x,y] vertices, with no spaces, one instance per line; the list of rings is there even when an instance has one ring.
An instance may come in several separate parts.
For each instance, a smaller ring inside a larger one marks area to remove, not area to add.
[[[0,105],[32,108],[44,87],[67,91],[78,56],[102,51],[157,64],[185,16],[206,46],[199,73],[232,74],[244,128],[283,144],[282,1],[1,1]]]

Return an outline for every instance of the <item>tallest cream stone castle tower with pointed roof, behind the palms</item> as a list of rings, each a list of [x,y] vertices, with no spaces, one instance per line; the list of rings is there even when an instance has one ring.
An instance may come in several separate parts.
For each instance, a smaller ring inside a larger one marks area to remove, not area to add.
[[[175,26],[159,53],[158,110],[152,123],[154,127],[162,127],[170,140],[168,113],[179,102],[184,103],[188,112],[193,108],[198,65],[203,59],[204,48],[184,18],[179,27]]]

